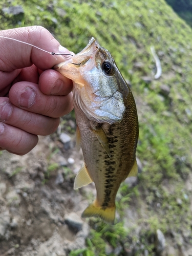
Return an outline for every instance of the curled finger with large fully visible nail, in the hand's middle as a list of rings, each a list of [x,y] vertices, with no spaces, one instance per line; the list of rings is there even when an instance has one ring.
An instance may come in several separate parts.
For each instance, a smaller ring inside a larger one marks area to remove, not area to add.
[[[9,91],[12,104],[20,109],[49,116],[60,117],[73,109],[72,93],[65,96],[45,95],[38,84],[31,82],[17,82]]]

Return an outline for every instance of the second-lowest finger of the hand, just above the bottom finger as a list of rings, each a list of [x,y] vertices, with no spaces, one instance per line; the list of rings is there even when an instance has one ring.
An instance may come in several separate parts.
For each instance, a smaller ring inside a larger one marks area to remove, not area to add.
[[[0,98],[0,122],[35,135],[49,135],[56,131],[59,118],[51,118],[17,108],[8,98]]]

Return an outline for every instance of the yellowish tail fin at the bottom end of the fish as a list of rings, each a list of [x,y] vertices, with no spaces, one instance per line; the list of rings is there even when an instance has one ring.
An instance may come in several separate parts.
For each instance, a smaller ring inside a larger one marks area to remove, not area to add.
[[[109,224],[114,224],[115,220],[115,205],[113,207],[108,207],[108,208],[101,208],[98,206],[96,203],[96,200],[90,204],[82,213],[81,217],[86,218],[86,217],[93,217],[93,216],[98,216],[100,217],[103,221]]]

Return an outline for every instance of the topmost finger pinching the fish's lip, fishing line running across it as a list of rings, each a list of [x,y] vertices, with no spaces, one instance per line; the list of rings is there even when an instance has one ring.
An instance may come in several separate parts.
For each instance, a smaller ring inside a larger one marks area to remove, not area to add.
[[[66,48],[60,46],[47,29],[40,26],[3,30],[0,31],[0,35],[28,42],[49,52],[70,53]],[[69,57],[68,55],[54,57],[35,47],[7,38],[0,38],[0,42],[0,69],[5,72],[30,67],[32,63],[39,69],[46,70]]]

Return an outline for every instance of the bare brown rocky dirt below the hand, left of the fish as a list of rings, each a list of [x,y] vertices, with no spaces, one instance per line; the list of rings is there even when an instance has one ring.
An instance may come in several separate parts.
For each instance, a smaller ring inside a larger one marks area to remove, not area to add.
[[[85,247],[89,225],[80,216],[88,205],[81,196],[86,190],[73,189],[82,154],[69,148],[63,157],[59,147],[61,142],[40,137],[25,156],[0,156],[1,256],[65,256]]]

